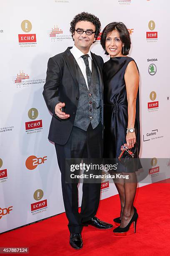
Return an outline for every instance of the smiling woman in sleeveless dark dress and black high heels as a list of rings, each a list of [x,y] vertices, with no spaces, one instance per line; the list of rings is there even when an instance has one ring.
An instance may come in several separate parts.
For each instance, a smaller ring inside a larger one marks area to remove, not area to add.
[[[135,157],[140,151],[140,112],[139,112],[139,72],[134,59],[128,57],[130,35],[126,26],[119,22],[108,24],[101,35],[101,45],[110,59],[103,66],[104,80],[104,157],[118,159],[121,146],[127,150],[136,148]],[[136,143],[137,142],[137,143]],[[126,145],[127,144],[127,145]],[[129,170],[122,165],[121,174],[129,179],[116,179],[115,186],[120,195],[120,217],[114,221],[119,225],[113,230],[115,235],[126,235],[130,225],[136,221],[138,213],[133,206],[140,167]],[[115,181],[115,180],[114,180]]]

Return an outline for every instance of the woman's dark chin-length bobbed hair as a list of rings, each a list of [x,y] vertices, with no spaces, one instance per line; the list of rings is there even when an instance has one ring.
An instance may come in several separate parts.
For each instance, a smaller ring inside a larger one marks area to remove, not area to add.
[[[126,28],[125,24],[122,22],[112,22],[109,23],[107,26],[102,31],[101,38],[100,38],[100,44],[102,45],[102,48],[105,51],[106,55],[109,55],[108,52],[106,51],[105,48],[105,42],[106,42],[106,37],[108,34],[110,34],[113,30],[117,30],[120,34],[120,40],[124,44],[124,54],[123,54],[123,48],[122,48],[122,54],[123,55],[128,55],[129,50],[130,50],[130,34],[128,29]]]

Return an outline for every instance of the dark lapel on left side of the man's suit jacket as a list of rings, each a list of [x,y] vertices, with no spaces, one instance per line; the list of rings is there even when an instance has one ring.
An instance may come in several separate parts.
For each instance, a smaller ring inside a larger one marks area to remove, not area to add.
[[[76,71],[76,67],[75,67],[75,63],[74,63],[74,59],[73,59],[73,56],[70,52],[70,49],[72,47],[68,47],[67,50],[64,52],[63,56],[64,56],[64,59],[67,63],[67,67],[70,71],[70,74],[72,75],[72,78],[74,79],[75,83],[77,84],[78,86],[78,81],[77,81],[77,71]]]

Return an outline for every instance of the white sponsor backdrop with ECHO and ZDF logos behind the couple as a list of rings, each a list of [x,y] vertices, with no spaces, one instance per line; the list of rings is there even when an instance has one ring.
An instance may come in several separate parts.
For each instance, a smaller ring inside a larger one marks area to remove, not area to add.
[[[140,157],[151,159],[139,186],[170,177],[169,7],[168,0],[0,2],[0,233],[65,211],[42,91],[47,61],[73,45],[70,21],[82,11],[100,18],[101,31],[112,21],[127,26],[140,70]],[[91,51],[109,59],[100,36]],[[115,194],[102,180],[101,199]]]

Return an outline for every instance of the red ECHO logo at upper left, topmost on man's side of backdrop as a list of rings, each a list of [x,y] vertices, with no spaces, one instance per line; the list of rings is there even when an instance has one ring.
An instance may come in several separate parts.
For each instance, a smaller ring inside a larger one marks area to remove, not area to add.
[[[23,20],[21,22],[21,29],[26,34],[18,34],[18,40],[21,47],[35,46],[36,34],[28,34],[32,30],[32,24],[29,20]]]

